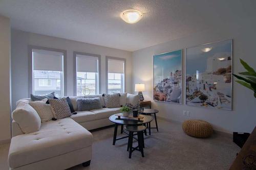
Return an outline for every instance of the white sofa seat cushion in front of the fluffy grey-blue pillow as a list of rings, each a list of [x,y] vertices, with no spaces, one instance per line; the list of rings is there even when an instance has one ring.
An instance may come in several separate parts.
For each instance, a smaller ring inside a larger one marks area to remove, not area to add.
[[[77,114],[72,114],[70,118],[77,123],[90,122],[96,119],[95,114],[91,111],[76,111]]]

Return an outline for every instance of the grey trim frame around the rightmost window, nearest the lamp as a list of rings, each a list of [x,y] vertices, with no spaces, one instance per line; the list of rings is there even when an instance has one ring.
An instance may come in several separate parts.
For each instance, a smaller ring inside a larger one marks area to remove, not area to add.
[[[124,76],[124,92],[126,91],[126,59],[125,58],[119,58],[119,57],[111,57],[111,56],[106,56],[106,94],[109,94],[109,59],[112,60],[120,60],[124,62],[124,72],[123,72],[123,76]],[[115,77],[115,75],[114,75]],[[122,82],[121,82],[122,83]]]

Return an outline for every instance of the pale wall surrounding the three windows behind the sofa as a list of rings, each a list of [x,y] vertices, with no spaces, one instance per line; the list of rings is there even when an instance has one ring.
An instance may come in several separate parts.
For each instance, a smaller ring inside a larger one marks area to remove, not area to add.
[[[101,55],[101,93],[105,92],[105,56],[126,59],[126,91],[131,92],[132,53],[114,48],[83,43],[73,40],[28,33],[19,30],[11,31],[12,59],[12,109],[15,102],[29,97],[28,45],[56,48],[67,51],[67,95],[74,95],[73,51]]]

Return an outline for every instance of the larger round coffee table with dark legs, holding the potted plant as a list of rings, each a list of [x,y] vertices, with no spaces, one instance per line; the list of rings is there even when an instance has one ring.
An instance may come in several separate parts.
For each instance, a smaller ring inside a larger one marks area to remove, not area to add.
[[[116,114],[113,114],[109,117],[110,121],[115,123],[115,129],[114,129],[114,136],[113,136],[113,145],[116,144],[116,140],[120,140],[120,139],[124,139],[127,138],[128,136],[124,136],[124,137],[120,137],[120,138],[116,138],[117,136],[117,128],[118,125],[121,125],[123,128],[123,125],[146,125],[147,123],[151,122],[153,120],[153,117],[151,115],[142,115],[143,119],[141,119],[140,121],[138,120],[134,120],[134,119],[128,119],[128,118],[118,118],[118,116],[116,116]],[[122,130],[121,128],[121,130]],[[122,133],[122,131],[121,131]],[[124,132],[125,134],[127,134],[126,132]],[[146,131],[144,131],[145,135],[146,135]],[[127,134],[128,135],[128,134]]]

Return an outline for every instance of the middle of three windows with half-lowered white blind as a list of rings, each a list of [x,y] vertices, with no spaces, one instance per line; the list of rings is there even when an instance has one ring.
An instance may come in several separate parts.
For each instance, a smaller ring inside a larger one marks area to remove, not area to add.
[[[76,95],[99,94],[99,60],[93,54],[74,53],[76,61]]]

